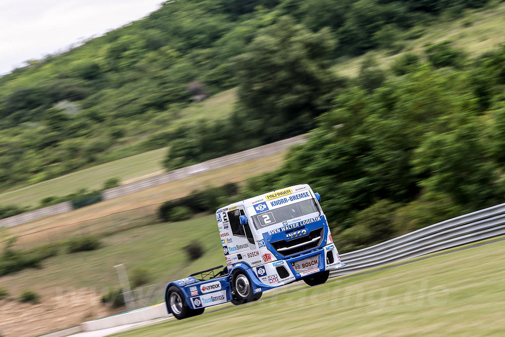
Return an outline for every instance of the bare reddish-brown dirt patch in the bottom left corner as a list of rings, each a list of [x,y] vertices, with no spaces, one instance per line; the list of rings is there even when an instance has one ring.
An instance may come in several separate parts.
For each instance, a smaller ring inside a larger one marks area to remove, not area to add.
[[[39,304],[0,301],[0,333],[33,337],[63,330],[84,321],[113,314],[100,302],[100,295],[85,288],[43,296]]]

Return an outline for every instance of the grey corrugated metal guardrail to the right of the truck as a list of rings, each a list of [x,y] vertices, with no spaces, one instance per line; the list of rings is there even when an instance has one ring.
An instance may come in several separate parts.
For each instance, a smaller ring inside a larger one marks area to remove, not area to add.
[[[505,204],[445,220],[375,246],[341,254],[345,275],[505,234]]]

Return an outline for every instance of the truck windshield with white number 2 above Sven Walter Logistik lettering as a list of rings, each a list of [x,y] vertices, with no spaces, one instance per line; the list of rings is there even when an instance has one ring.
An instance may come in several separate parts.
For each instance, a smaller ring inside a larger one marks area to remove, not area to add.
[[[256,229],[260,229],[314,212],[319,212],[319,210],[316,209],[314,200],[309,199],[253,215],[252,222],[254,222]]]

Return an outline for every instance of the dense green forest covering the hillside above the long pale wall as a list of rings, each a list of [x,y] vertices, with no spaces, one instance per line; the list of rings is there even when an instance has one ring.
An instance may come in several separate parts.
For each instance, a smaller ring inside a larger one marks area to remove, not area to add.
[[[398,52],[419,27],[486,4],[167,2],[0,78],[0,188],[166,146],[171,169],[306,132],[354,85],[331,71],[338,58]],[[362,78],[374,71],[364,68]],[[366,82],[367,90],[378,85]],[[239,103],[230,117],[181,122],[183,107],[234,86]]]

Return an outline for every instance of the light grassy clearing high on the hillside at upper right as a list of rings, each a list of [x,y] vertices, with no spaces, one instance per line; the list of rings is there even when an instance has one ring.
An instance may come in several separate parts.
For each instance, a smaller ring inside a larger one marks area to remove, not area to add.
[[[426,44],[450,40],[453,46],[468,53],[469,57],[477,57],[494,49],[497,43],[505,41],[504,17],[503,3],[483,11],[467,10],[463,18],[436,23],[426,28],[419,38],[407,40],[405,48],[398,54],[389,55],[386,51],[373,51],[370,54],[382,68],[386,69],[402,54],[411,52],[420,55]],[[344,76],[356,76],[365,57],[340,60],[333,69]]]

